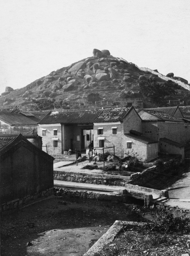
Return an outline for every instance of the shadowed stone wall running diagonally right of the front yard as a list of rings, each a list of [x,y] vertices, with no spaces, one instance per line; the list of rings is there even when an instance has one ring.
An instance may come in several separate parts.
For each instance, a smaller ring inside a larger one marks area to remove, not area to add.
[[[172,168],[175,171],[175,168],[177,166],[179,166],[179,164],[181,164],[181,163],[182,163],[182,159],[181,159],[181,156],[179,156],[179,157],[176,157],[175,159],[171,159],[163,164],[149,167],[142,172],[137,172],[137,173],[132,174],[130,176],[132,180],[129,181],[129,183],[133,184],[133,185],[146,186],[146,184],[147,184],[147,182],[149,182],[149,180],[153,180],[158,176],[158,173],[159,174],[162,174],[162,173],[167,174],[167,171],[171,171]]]

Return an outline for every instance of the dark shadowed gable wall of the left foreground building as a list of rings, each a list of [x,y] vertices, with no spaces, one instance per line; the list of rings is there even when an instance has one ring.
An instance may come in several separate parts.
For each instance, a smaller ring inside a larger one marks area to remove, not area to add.
[[[54,186],[53,159],[29,148],[17,145],[1,157],[1,204]]]

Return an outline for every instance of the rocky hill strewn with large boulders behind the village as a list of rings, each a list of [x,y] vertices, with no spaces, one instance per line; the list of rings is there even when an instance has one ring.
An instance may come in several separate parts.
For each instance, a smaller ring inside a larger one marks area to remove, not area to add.
[[[146,107],[139,85],[148,79],[161,84],[167,80],[175,82],[178,94],[172,100],[183,99],[190,91],[188,81],[173,73],[163,76],[157,70],[139,68],[123,58],[113,57],[108,50],[94,49],[92,57],[52,71],[26,87],[17,90],[6,87],[0,96],[0,106],[27,105],[32,110],[126,103]]]

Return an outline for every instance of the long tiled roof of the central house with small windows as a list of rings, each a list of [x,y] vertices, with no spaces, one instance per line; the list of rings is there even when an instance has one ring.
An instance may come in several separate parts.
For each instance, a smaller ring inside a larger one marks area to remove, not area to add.
[[[132,108],[51,112],[39,124],[121,122]]]

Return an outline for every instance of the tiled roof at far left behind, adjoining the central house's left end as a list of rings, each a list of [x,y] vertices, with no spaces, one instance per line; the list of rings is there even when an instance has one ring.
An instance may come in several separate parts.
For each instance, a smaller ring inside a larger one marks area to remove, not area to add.
[[[44,116],[45,113],[35,113],[34,116],[25,116],[22,113],[0,111],[0,121],[2,120],[9,125],[37,125],[37,122]]]

